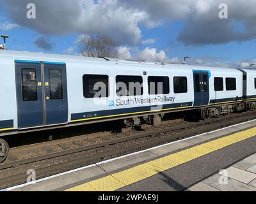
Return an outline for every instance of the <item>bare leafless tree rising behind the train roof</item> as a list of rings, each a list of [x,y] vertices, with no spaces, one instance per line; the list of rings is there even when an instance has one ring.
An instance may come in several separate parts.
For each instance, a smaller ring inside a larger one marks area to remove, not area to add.
[[[82,55],[88,57],[118,57],[115,41],[105,34],[84,36],[77,47]]]

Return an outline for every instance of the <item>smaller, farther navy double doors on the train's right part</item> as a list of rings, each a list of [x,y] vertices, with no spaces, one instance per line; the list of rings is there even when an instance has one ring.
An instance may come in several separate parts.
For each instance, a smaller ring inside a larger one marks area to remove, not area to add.
[[[194,76],[194,106],[204,106],[209,103],[209,72],[193,71]]]

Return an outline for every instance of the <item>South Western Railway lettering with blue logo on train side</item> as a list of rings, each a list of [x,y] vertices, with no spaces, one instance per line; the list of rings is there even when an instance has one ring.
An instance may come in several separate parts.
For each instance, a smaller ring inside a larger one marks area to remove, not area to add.
[[[128,105],[146,105],[157,103],[174,103],[175,97],[157,96],[156,98],[127,98],[109,101],[109,106],[128,106]]]

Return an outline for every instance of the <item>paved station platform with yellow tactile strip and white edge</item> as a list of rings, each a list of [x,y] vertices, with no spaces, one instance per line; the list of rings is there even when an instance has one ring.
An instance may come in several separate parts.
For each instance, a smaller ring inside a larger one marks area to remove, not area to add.
[[[256,191],[256,120],[6,191]]]

